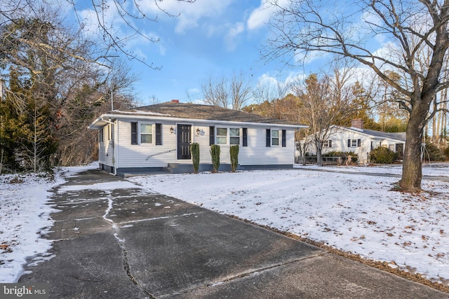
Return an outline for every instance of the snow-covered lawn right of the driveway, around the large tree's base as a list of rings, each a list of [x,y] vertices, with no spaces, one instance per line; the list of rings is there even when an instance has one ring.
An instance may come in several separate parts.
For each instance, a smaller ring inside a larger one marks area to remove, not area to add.
[[[423,174],[449,176],[445,166],[424,167]],[[410,195],[391,190],[398,178],[361,173],[400,174],[401,167],[325,169],[358,173],[316,172],[297,166],[136,176],[130,181],[449,284],[448,182],[423,180],[422,188],[433,193]]]

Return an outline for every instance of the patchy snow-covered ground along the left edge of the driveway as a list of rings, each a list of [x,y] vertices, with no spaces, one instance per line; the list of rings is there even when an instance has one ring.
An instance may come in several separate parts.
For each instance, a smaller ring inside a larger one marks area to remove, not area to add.
[[[66,175],[87,167],[57,169],[55,178],[46,174],[2,174],[0,176],[0,283],[16,282],[23,273],[27,258],[33,263],[52,258],[48,253],[51,241],[43,239],[53,226],[51,213],[57,211],[48,205],[51,188],[65,182]]]

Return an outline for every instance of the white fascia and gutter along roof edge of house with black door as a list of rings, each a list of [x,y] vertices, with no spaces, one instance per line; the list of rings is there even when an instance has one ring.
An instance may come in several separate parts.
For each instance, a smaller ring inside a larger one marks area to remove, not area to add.
[[[97,125],[98,123],[104,122],[107,123],[104,119],[151,119],[151,120],[168,120],[173,121],[174,123],[180,122],[188,122],[188,123],[204,123],[204,124],[229,124],[229,125],[253,125],[260,127],[267,127],[267,125],[271,127],[291,127],[291,128],[303,128],[309,127],[307,125],[288,125],[288,124],[276,124],[276,123],[252,123],[252,122],[239,122],[239,121],[228,121],[228,120],[203,120],[203,119],[193,119],[193,118],[170,118],[170,117],[162,117],[162,116],[138,116],[138,115],[128,115],[128,114],[102,114],[99,118],[93,121],[91,125],[89,125],[89,129],[98,129],[102,127],[102,125]]]

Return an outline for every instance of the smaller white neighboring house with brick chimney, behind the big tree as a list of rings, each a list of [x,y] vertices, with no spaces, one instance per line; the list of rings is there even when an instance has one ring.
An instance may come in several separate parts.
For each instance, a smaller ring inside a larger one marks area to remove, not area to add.
[[[385,133],[375,130],[363,129],[363,120],[352,120],[351,127],[333,126],[330,137],[324,141],[322,154],[331,151],[352,152],[358,155],[358,163],[369,162],[369,153],[374,148],[384,146],[398,153],[401,159],[404,144],[406,144],[406,132]],[[309,145],[308,153],[316,154],[315,145]]]

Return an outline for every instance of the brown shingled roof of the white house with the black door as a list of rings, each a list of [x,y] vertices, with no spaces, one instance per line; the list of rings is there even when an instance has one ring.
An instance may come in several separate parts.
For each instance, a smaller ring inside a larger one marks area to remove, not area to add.
[[[197,120],[223,120],[241,123],[271,123],[278,125],[300,125],[292,123],[288,120],[279,120],[275,118],[267,118],[257,114],[226,109],[219,106],[208,106],[192,103],[165,102],[149,106],[142,106],[136,109],[126,111],[110,111],[107,114],[114,115],[142,115],[142,116],[158,116],[167,118],[187,118]]]

